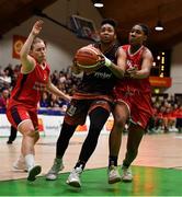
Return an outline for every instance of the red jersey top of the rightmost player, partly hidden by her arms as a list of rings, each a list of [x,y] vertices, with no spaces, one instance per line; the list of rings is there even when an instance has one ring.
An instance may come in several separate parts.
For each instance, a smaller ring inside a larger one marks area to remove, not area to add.
[[[147,49],[145,46],[141,46],[135,54],[130,54],[130,45],[124,45],[122,48],[125,50],[127,56],[127,65],[126,70],[132,67],[136,67],[138,70],[141,69],[143,63],[143,53]],[[132,78],[124,78],[118,80],[116,91],[127,91],[127,92],[143,92],[148,93],[150,92],[150,82],[149,78],[146,79],[132,79]]]

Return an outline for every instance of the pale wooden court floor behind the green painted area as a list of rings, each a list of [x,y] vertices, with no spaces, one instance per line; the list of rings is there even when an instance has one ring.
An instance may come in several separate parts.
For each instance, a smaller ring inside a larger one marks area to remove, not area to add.
[[[72,170],[84,138],[86,135],[75,135],[72,137],[64,158],[64,172]],[[107,139],[109,135],[100,136],[98,147],[93,155],[90,158],[86,169],[107,166]],[[43,169],[41,176],[44,176],[53,164],[56,140],[57,137],[41,137],[41,140],[36,144],[35,160]],[[127,135],[124,135],[118,163],[122,163],[123,161],[126,140]],[[26,177],[26,173],[13,172],[12,170],[12,163],[20,154],[20,144],[21,137],[18,137],[13,144],[7,144],[7,138],[0,138],[0,181]],[[182,135],[174,132],[145,135],[139,148],[138,157],[133,165],[182,170]]]

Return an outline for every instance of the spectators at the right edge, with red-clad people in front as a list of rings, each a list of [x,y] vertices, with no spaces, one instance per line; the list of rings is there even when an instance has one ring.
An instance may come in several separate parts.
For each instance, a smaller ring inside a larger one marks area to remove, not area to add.
[[[153,116],[148,124],[149,132],[182,132],[182,95],[153,95]]]

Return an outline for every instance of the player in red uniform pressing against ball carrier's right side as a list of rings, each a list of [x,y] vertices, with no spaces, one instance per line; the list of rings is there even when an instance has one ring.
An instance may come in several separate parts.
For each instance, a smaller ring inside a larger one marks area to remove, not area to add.
[[[122,131],[130,117],[127,139],[127,152],[123,161],[123,182],[132,182],[130,163],[138,153],[138,147],[145,128],[152,114],[150,105],[149,74],[152,66],[151,51],[144,46],[148,36],[148,27],[144,24],[133,26],[129,33],[129,45],[122,46],[127,55],[125,77],[114,89],[116,105],[114,108],[114,126],[110,134],[109,182],[120,181],[117,155],[122,141]]]

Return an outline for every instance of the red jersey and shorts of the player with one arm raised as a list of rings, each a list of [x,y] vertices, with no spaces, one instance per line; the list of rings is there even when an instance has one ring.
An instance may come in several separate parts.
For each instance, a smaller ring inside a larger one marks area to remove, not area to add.
[[[36,63],[32,72],[19,74],[7,109],[7,117],[15,128],[25,119],[31,119],[34,127],[37,128],[37,103],[41,99],[41,92],[46,89],[49,73],[48,65],[42,68]]]

